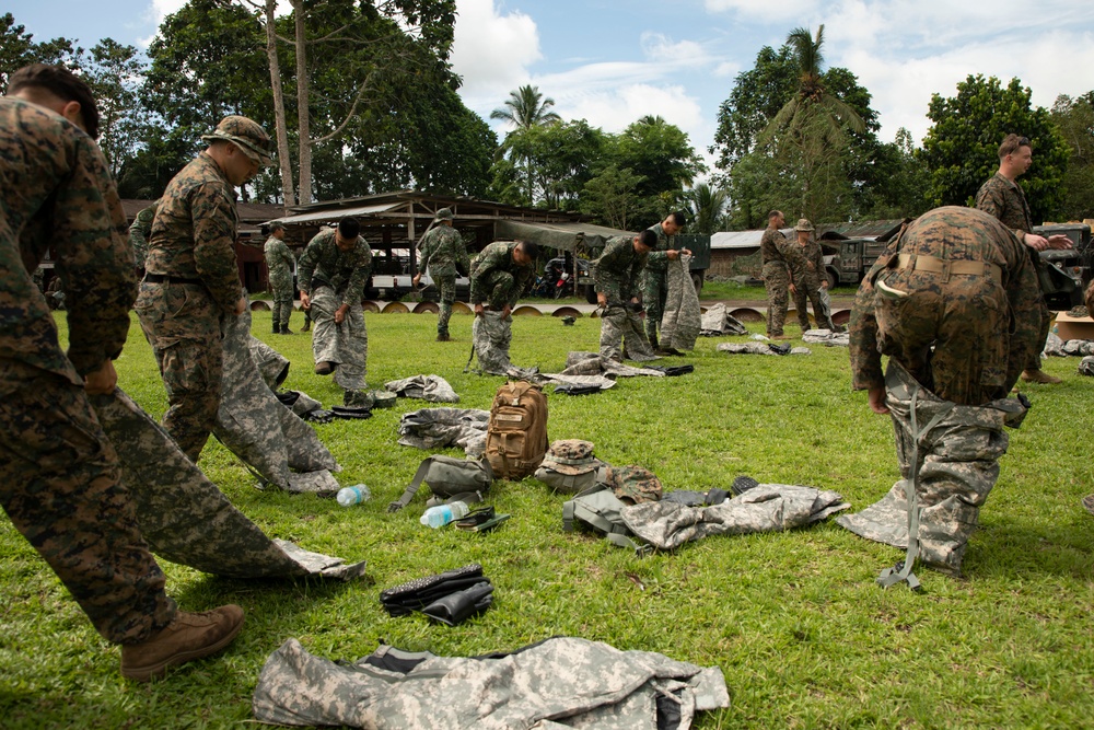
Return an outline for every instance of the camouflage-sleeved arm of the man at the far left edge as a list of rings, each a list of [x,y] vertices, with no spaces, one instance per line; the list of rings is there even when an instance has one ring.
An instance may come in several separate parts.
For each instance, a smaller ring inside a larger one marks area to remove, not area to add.
[[[118,357],[137,297],[125,213],[102,152],[78,142],[73,169],[58,188],[53,242],[65,285],[68,357],[81,375]]]

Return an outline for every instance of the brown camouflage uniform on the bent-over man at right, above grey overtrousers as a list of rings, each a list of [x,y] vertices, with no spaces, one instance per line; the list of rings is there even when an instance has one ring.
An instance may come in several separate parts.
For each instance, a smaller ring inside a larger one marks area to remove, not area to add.
[[[985,262],[998,267],[999,280],[897,268],[899,254]],[[908,296],[886,293],[882,283]],[[859,286],[850,323],[853,386],[884,385],[884,354],[945,401],[1004,397],[1039,349],[1039,297],[1025,246],[1002,223],[969,208],[929,211],[891,242]]]

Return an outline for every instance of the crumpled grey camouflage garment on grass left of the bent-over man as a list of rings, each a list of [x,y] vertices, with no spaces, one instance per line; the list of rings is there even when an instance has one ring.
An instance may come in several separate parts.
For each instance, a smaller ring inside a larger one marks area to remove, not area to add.
[[[709,507],[648,502],[620,511],[627,528],[661,549],[676,549],[709,535],[782,532],[824,520],[851,506],[835,491],[801,485],[760,484]]]

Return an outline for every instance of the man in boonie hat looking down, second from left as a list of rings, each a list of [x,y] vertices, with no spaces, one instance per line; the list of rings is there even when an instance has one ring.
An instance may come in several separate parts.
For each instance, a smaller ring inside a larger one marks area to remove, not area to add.
[[[167,390],[163,427],[194,462],[217,421],[221,324],[247,306],[235,259],[235,186],[270,161],[270,138],[224,117],[209,147],[167,184],[152,223],[137,314]]]

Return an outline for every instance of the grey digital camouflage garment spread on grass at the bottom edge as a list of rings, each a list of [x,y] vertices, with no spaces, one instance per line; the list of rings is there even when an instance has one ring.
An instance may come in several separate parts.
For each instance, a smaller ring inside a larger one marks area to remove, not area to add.
[[[351,665],[288,639],[266,661],[252,702],[259,722],[296,727],[656,730],[666,695],[679,730],[697,712],[730,705],[717,667],[567,637],[474,659],[384,646]]]

